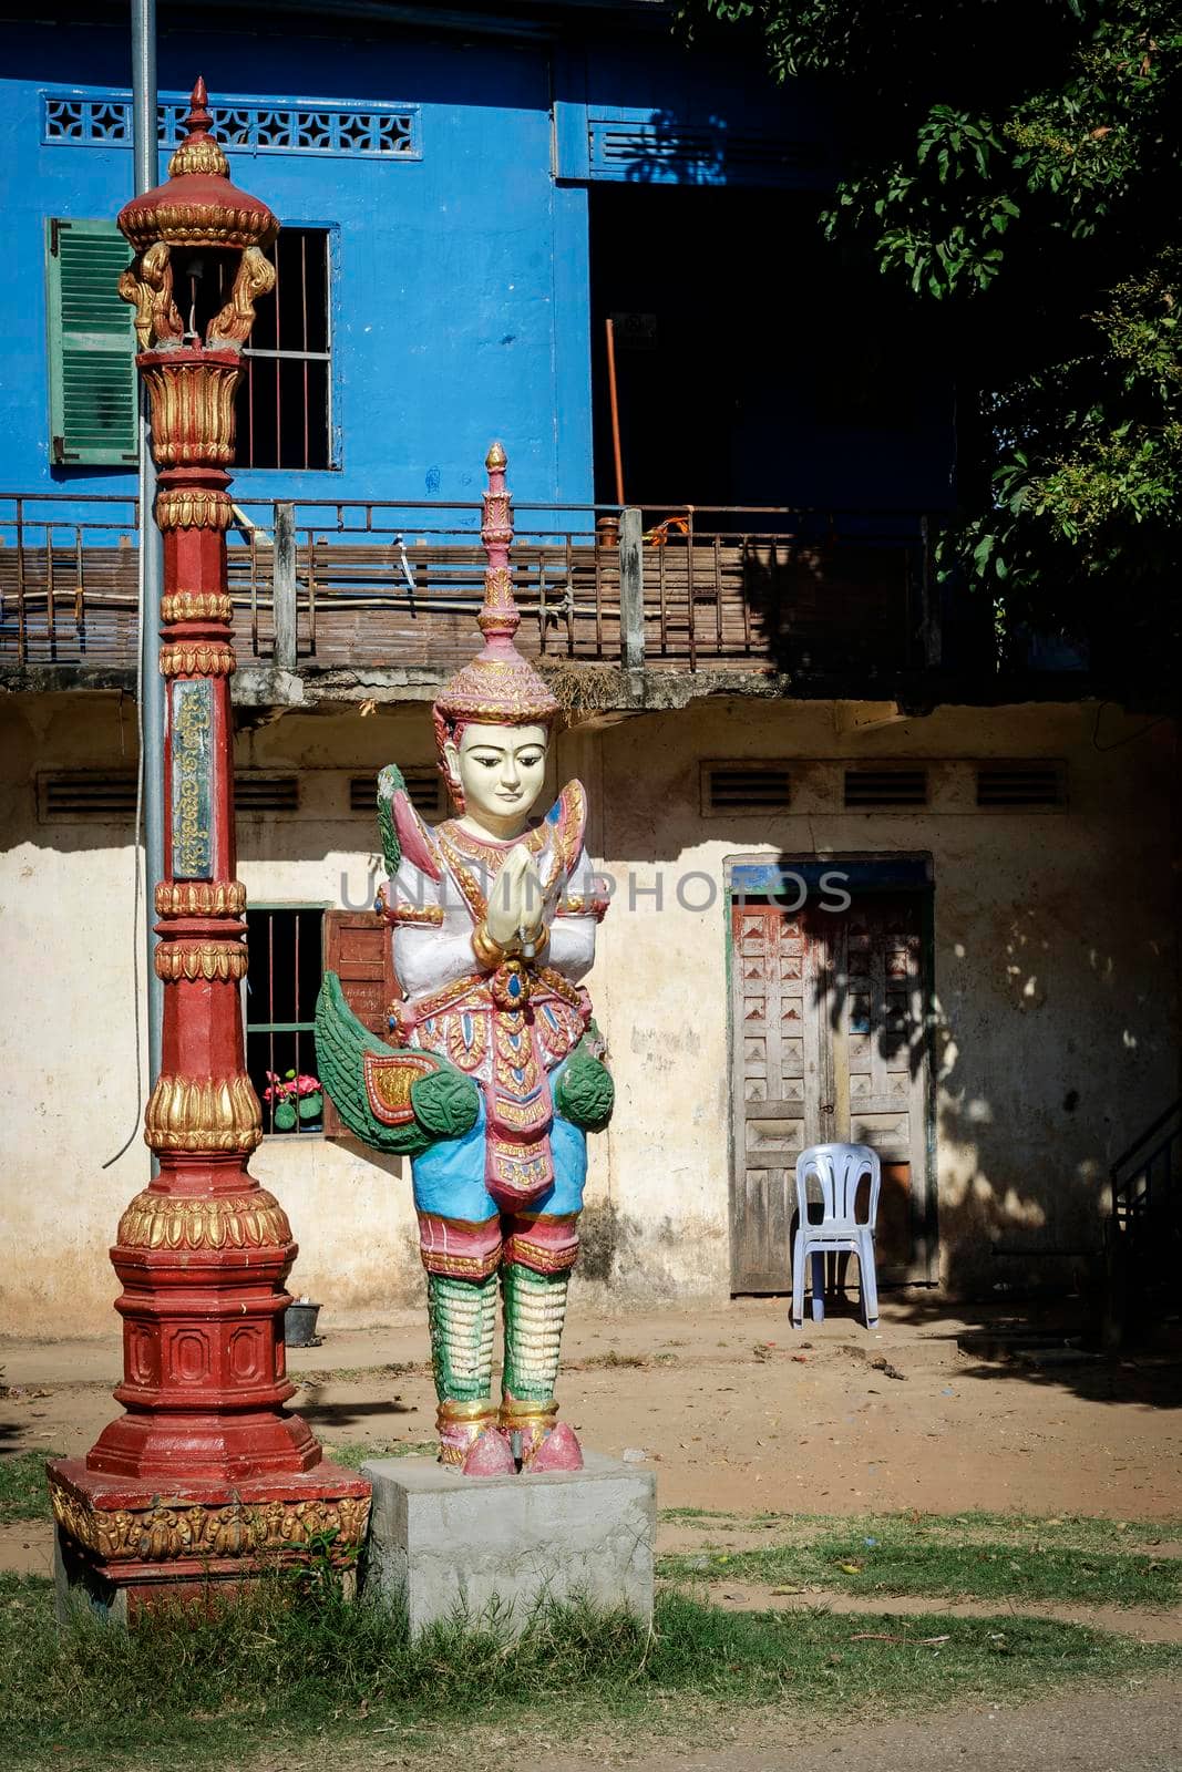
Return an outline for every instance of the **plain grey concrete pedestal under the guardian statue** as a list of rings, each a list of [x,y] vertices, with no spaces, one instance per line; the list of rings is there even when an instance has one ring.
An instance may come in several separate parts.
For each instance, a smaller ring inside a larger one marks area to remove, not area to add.
[[[455,1616],[519,1632],[548,1600],[652,1618],[656,1476],[601,1453],[583,1471],[459,1476],[431,1458],[376,1458],[367,1591],[411,1632]]]

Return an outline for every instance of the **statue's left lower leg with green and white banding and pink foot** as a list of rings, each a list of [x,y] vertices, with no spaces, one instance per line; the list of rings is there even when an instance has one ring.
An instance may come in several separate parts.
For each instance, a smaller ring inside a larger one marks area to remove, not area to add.
[[[471,1442],[496,1423],[491,1398],[496,1274],[486,1279],[427,1274],[427,1322],[439,1398],[439,1460],[459,1465]]]

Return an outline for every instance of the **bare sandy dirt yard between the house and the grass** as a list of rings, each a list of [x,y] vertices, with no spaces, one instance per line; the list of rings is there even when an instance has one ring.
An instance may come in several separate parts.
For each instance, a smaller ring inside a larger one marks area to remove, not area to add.
[[[425,1442],[425,1322],[291,1348],[298,1409],[328,1446]],[[789,1325],[782,1299],[647,1317],[571,1313],[560,1400],[583,1442],[657,1471],[661,1508],[863,1513],[968,1508],[1182,1515],[1182,1354],[1109,1359],[1070,1308],[955,1311],[898,1297]],[[115,1409],[119,1343],[0,1340],[0,1457],[85,1453]],[[677,1527],[665,1527],[668,1549]],[[48,1566],[4,1527],[0,1566]]]

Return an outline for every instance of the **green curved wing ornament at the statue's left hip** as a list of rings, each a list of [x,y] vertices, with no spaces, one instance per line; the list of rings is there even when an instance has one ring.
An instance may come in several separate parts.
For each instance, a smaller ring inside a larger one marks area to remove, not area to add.
[[[315,1053],[333,1108],[376,1150],[418,1157],[477,1123],[480,1093],[471,1077],[431,1053],[379,1040],[346,1003],[337,973],[324,973],[315,999]]]

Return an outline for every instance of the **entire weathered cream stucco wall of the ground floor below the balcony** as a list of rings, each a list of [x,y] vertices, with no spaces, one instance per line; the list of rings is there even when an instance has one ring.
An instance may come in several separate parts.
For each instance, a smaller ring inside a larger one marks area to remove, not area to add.
[[[728,1285],[728,858],[925,852],[936,879],[936,1100],[941,1278],[989,1290],[1069,1278],[1093,1247],[1118,1150],[1177,1092],[1168,727],[1095,707],[946,709],[838,730],[822,703],[721,703],[567,734],[592,849],[618,882],[592,978],[618,1108],[594,1141],[583,1285],[618,1304],[725,1295]],[[1118,742],[1127,739],[1129,742]],[[978,813],[957,760],[1054,757],[1067,813]],[[135,709],[115,696],[0,702],[0,909],[9,1012],[0,1235],[4,1329],[110,1324],[106,1249],[147,1177],[133,1033],[128,822],[43,824],[37,771],[128,767]],[[704,817],[705,758],[794,760],[794,810]],[[845,813],[840,758],[932,760],[921,815]],[[376,831],[349,776],[431,760],[425,709],[291,714],[239,739],[239,767],[299,767],[294,817],[243,817],[255,900],[362,904]],[[936,810],[943,808],[943,810]],[[661,907],[652,897],[661,881]],[[704,875],[682,890],[686,874]],[[629,905],[629,879],[631,888]],[[124,1155],[119,1150],[135,1127]],[[266,1139],[253,1173],[301,1244],[292,1283],[335,1320],[416,1310],[409,1178],[397,1161],[319,1138]],[[1023,1263],[994,1247],[1047,1251]]]

